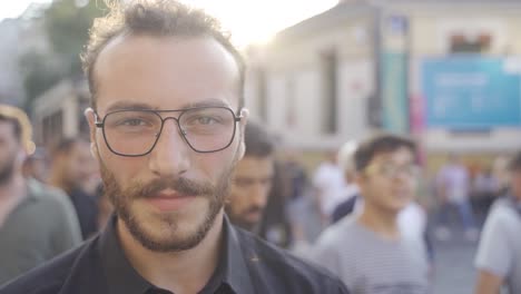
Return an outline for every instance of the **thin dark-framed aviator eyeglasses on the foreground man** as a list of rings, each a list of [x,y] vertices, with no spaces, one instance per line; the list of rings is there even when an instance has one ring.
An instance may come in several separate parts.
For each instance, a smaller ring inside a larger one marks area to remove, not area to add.
[[[165,112],[179,112],[179,116],[164,118],[161,114]],[[227,107],[117,110],[107,114],[101,121],[96,121],[96,127],[101,128],[110,151],[120,156],[138,157],[151,153],[159,140],[165,121],[174,119],[180,136],[194,151],[215,153],[232,144],[236,122],[242,118]]]

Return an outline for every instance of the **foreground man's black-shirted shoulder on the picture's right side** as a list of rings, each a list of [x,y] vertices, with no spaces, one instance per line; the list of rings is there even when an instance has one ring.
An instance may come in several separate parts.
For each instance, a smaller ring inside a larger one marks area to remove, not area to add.
[[[292,253],[267,244],[266,242],[244,232],[238,232],[246,251],[257,257],[257,267],[264,275],[283,280],[282,283],[293,285],[291,292],[298,293],[347,293],[344,284],[327,270],[301,259]],[[246,253],[248,254],[248,253]],[[246,258],[250,259],[249,256]],[[322,291],[321,291],[322,290]]]

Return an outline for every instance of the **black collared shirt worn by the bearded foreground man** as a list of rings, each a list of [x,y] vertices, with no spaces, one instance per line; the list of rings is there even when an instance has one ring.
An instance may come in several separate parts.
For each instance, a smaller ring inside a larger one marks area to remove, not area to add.
[[[168,294],[141,277],[124,254],[116,234],[116,217],[82,246],[40,266],[0,294]],[[224,244],[218,266],[199,293],[348,293],[326,270],[235,228],[224,218]]]

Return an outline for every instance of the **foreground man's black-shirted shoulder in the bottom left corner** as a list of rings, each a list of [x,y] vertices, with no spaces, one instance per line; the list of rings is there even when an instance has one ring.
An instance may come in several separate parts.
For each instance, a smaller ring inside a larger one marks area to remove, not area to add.
[[[69,251],[38,266],[0,287],[0,294],[57,294],[72,276],[80,259],[90,259],[88,254],[94,241]]]

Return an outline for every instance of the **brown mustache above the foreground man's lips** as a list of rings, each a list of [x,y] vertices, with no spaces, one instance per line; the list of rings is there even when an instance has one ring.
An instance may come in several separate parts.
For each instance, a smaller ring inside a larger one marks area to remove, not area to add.
[[[157,178],[147,184],[138,184],[131,187],[132,195],[137,198],[151,198],[157,196],[161,190],[173,189],[184,195],[212,195],[215,187],[210,184],[199,184],[197,182],[178,177],[178,178]]]

